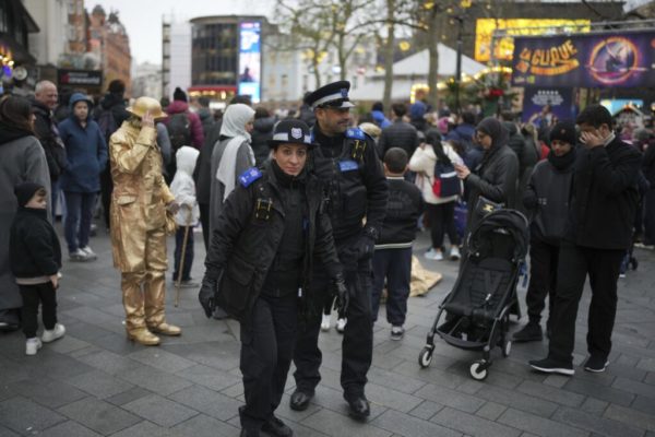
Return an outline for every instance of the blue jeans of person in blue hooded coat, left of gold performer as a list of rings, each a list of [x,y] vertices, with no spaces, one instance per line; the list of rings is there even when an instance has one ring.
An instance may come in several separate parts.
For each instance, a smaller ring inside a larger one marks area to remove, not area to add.
[[[69,253],[72,253],[81,247],[88,246],[93,206],[97,194],[95,192],[66,191],[63,196],[66,199],[63,235],[69,247]]]

